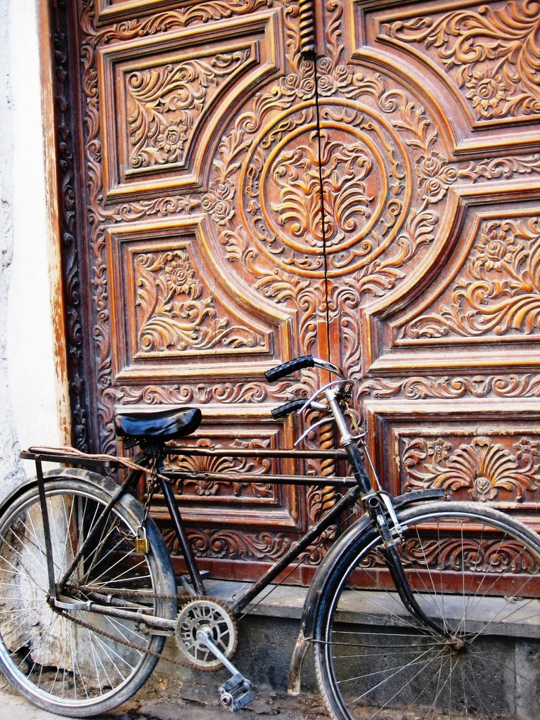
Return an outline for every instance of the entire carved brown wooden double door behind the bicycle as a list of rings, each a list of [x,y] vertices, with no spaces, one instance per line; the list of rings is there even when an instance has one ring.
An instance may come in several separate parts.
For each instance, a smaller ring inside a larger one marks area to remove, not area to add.
[[[193,403],[200,446],[290,448],[294,421],[269,419],[289,384],[263,372],[311,352],[358,377],[393,492],[533,521],[536,4],[55,9],[78,444],[114,449],[118,405]],[[177,487],[215,575],[256,575],[334,502],[265,482],[312,463],[190,462],[250,472]]]

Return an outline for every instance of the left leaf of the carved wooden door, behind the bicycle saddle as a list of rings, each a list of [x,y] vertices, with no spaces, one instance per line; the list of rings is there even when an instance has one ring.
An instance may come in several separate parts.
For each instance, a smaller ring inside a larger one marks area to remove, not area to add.
[[[318,341],[326,315],[314,65],[301,47],[312,35],[310,4],[53,7],[78,445],[117,451],[117,408],[165,403],[203,406],[190,438],[203,448],[292,447],[292,422],[270,415],[287,384],[270,390],[264,371],[327,352],[325,331]],[[297,471],[289,458],[171,466],[248,472],[246,482],[175,486],[215,575],[253,575],[333,501],[333,490],[265,481]],[[160,498],[153,513],[166,523]]]

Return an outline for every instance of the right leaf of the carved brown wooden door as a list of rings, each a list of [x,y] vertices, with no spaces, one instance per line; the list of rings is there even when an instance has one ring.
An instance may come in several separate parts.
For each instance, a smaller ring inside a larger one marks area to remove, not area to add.
[[[363,163],[356,214],[343,183],[327,210],[330,336],[380,477],[538,528],[538,6],[345,0],[324,27],[323,136]]]

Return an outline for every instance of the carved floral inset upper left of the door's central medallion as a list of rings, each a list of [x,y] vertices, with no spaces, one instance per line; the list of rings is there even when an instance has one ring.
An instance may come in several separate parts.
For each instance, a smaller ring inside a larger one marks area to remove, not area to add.
[[[207,104],[248,59],[248,50],[184,60],[126,78],[127,136],[132,168],[181,163]]]

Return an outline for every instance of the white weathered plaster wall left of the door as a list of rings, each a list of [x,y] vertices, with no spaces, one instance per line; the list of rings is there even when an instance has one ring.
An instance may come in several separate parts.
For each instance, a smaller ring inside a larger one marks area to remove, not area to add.
[[[34,0],[0,2],[0,498],[30,444],[61,444]]]

